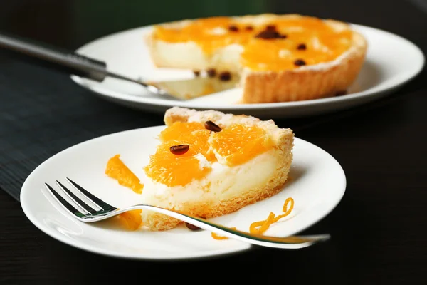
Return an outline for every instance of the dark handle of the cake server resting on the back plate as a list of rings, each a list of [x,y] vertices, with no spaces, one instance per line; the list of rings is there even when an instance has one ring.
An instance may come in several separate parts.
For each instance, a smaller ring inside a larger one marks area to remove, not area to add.
[[[108,75],[107,64],[72,51],[35,43],[16,36],[0,33],[0,48],[8,49],[21,56],[33,58],[38,64],[68,74],[94,81],[103,81]]]

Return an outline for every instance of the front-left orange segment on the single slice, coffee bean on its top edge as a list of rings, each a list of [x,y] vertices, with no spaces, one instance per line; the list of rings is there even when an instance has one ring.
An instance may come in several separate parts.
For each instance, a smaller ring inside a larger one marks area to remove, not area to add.
[[[169,187],[184,186],[192,180],[204,177],[211,166],[203,162],[197,147],[189,146],[189,150],[181,155],[175,155],[170,147],[181,145],[182,141],[168,140],[157,147],[154,155],[150,155],[149,164],[144,168],[148,177]]]

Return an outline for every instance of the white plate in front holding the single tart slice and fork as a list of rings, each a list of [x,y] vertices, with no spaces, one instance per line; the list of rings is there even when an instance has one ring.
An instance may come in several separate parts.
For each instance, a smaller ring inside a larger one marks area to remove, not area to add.
[[[28,219],[51,237],[80,249],[115,257],[182,259],[209,257],[249,249],[233,239],[216,240],[210,232],[191,232],[179,227],[166,232],[130,232],[111,222],[78,222],[55,201],[48,201],[47,182],[70,177],[105,202],[116,207],[135,204],[137,194],[118,185],[104,173],[107,160],[120,154],[125,164],[144,182],[142,167],[157,145],[154,137],[164,127],[128,130],[88,140],[46,160],[28,176],[21,190],[21,204]],[[346,178],[339,163],[310,142],[295,138],[291,180],[278,195],[213,220],[248,231],[251,222],[266,219],[270,211],[280,214],[287,197],[295,200],[289,219],[274,224],[265,234],[288,236],[325,217],[344,195]],[[317,233],[323,234],[323,233]]]

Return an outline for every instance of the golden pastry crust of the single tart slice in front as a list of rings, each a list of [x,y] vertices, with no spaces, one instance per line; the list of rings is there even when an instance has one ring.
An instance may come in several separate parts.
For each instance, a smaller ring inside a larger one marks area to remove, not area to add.
[[[166,125],[171,125],[176,121],[189,122],[198,121],[204,123],[206,120],[213,120],[220,126],[233,123],[245,123],[248,125],[256,124],[266,130],[273,139],[275,156],[278,157],[278,165],[275,171],[270,174],[270,179],[262,187],[255,187],[243,192],[242,195],[234,196],[228,199],[208,200],[199,203],[189,202],[181,203],[178,210],[196,217],[218,217],[223,214],[235,212],[248,204],[253,204],[263,199],[267,199],[280,192],[288,179],[288,173],[292,162],[292,147],[294,134],[288,128],[278,128],[273,120],[262,121],[246,115],[230,115],[214,110],[196,111],[186,108],[174,107],[164,115]],[[164,214],[158,214],[151,211],[143,211],[142,222],[149,229],[166,230],[172,229],[181,223],[178,219],[168,217]]]

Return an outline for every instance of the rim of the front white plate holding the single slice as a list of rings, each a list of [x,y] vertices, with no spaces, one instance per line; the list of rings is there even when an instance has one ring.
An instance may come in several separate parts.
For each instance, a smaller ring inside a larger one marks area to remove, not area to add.
[[[85,252],[91,252],[94,254],[100,254],[100,255],[104,255],[104,256],[109,256],[109,257],[115,257],[115,258],[122,258],[122,259],[138,259],[138,260],[150,260],[150,261],[172,261],[172,260],[189,260],[189,259],[210,259],[210,258],[216,258],[216,257],[225,257],[225,256],[229,256],[232,254],[239,254],[241,252],[245,252],[248,251],[250,249],[253,248],[253,244],[246,244],[245,247],[241,247],[241,248],[231,248],[231,249],[214,249],[211,251],[206,251],[206,252],[201,252],[200,254],[181,254],[181,256],[176,257],[176,256],[171,256],[171,257],[166,257],[166,256],[162,256],[162,257],[153,257],[153,256],[149,256],[149,257],[142,257],[141,254],[124,254],[121,253],[120,251],[112,251],[112,250],[105,250],[102,249],[101,247],[92,247],[90,245],[86,245],[83,242],[76,242],[73,239],[70,239],[68,237],[65,237],[61,234],[59,234],[58,232],[48,228],[48,227],[44,227],[43,223],[41,223],[37,218],[36,218],[36,214],[33,214],[31,212],[31,203],[26,202],[26,192],[29,192],[30,190],[36,190],[34,188],[31,187],[31,185],[28,185],[33,176],[36,176],[38,171],[42,171],[41,168],[43,167],[43,165],[45,165],[49,160],[53,160],[54,157],[58,157],[60,155],[63,154],[63,152],[66,152],[68,150],[70,150],[71,148],[77,147],[77,146],[81,146],[81,145],[85,145],[85,144],[90,144],[90,142],[92,142],[93,140],[102,140],[102,138],[107,138],[111,135],[121,135],[122,133],[132,133],[132,132],[139,132],[139,131],[143,131],[146,129],[156,129],[156,128],[164,128],[164,125],[155,125],[155,126],[150,126],[150,127],[145,127],[145,128],[134,128],[134,129],[130,129],[130,130],[123,130],[120,132],[116,132],[116,133],[110,133],[110,134],[106,134],[106,135],[100,135],[96,138],[91,138],[89,140],[85,140],[83,142],[79,142],[75,145],[71,145],[70,147],[67,147],[59,152],[57,152],[56,154],[52,155],[51,157],[48,157],[48,159],[46,159],[45,161],[43,161],[40,165],[38,165],[31,173],[30,175],[28,175],[28,177],[26,178],[26,180],[23,182],[23,185],[21,187],[21,192],[20,192],[20,200],[21,200],[21,208],[23,209],[24,214],[26,215],[27,219],[30,220],[30,222],[36,226],[39,230],[41,230],[41,232],[47,234],[48,236],[52,237],[53,239],[58,240],[59,242],[63,242],[64,244],[68,244],[71,247],[75,247],[77,249],[81,249]],[[334,197],[334,199],[330,202],[330,208],[327,209],[324,213],[320,214],[316,219],[312,219],[312,221],[308,222],[305,227],[303,227],[302,229],[300,229],[299,231],[295,232],[294,234],[297,234],[298,232],[302,232],[310,227],[312,227],[312,225],[317,224],[318,222],[320,222],[322,219],[325,219],[325,217],[327,217],[331,212],[334,211],[334,209],[338,206],[338,204],[342,201],[342,198],[345,195],[345,192],[347,190],[347,176],[344,172],[344,169],[342,168],[342,165],[339,164],[339,162],[332,156],[330,155],[329,152],[327,152],[326,150],[322,149],[321,147],[313,144],[312,142],[308,142],[307,140],[303,140],[301,138],[297,138],[295,137],[296,141],[300,141],[300,143],[306,143],[308,145],[310,145],[310,147],[315,147],[318,150],[320,150],[321,152],[324,152],[325,155],[327,155],[327,157],[329,157],[330,161],[335,163],[337,165],[337,170],[340,172],[341,179],[342,179],[342,185],[339,185],[339,195],[337,195],[336,197]],[[294,142],[295,143],[295,142]],[[38,191],[41,192],[40,189],[37,189]],[[41,194],[42,192],[41,192]],[[43,197],[46,198],[46,197]],[[59,212],[58,212],[59,213]],[[70,217],[71,218],[71,217]]]

